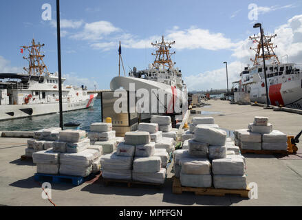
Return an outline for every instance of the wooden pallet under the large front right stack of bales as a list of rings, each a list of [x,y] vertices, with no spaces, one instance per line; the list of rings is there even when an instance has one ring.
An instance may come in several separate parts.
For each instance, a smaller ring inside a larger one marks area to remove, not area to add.
[[[199,188],[199,187],[186,187],[180,184],[180,179],[174,177],[172,192],[174,194],[182,194],[182,192],[195,192],[195,195],[214,195],[217,197],[224,197],[226,195],[239,195],[248,198],[249,188],[245,190],[231,190],[224,188]]]

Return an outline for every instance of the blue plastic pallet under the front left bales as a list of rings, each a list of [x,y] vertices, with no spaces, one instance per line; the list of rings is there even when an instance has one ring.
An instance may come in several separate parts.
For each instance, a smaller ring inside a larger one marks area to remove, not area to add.
[[[69,176],[69,175],[52,175],[45,173],[35,173],[34,180],[36,181],[50,181],[54,184],[70,184],[75,186],[83,184],[83,182],[88,181],[98,175],[98,173],[91,173],[87,177]]]

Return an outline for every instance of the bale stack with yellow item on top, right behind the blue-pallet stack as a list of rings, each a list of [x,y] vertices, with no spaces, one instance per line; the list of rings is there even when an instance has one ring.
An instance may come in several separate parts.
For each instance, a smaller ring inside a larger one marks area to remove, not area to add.
[[[90,125],[88,137],[94,145],[103,146],[103,153],[112,153],[118,144],[116,131],[112,131],[111,123],[96,122]]]

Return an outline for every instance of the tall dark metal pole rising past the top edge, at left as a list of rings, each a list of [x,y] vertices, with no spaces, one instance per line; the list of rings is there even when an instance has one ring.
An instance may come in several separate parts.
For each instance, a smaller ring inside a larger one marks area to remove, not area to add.
[[[63,107],[62,107],[62,73],[61,73],[61,34],[60,34],[60,0],[56,0],[56,37],[58,41],[58,98],[60,109],[60,126],[63,130]]]

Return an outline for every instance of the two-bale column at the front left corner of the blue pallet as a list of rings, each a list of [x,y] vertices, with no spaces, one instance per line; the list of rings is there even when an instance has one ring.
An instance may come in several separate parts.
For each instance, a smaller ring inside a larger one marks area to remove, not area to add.
[[[36,164],[36,173],[58,174],[59,154],[52,150],[33,153],[32,162]]]

